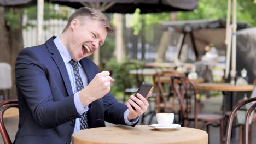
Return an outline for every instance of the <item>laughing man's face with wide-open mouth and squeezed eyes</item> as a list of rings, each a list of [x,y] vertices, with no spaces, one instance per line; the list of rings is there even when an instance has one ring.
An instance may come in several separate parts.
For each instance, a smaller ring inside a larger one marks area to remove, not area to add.
[[[74,19],[70,28],[67,49],[74,61],[90,56],[103,45],[107,37],[107,29],[99,20],[91,17]]]

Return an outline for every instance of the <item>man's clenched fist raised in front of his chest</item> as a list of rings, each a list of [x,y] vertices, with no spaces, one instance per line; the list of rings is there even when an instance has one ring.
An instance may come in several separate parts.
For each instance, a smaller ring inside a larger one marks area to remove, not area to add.
[[[110,84],[114,81],[108,71],[98,73],[89,85],[79,92],[79,99],[83,106],[102,98],[110,91]]]

